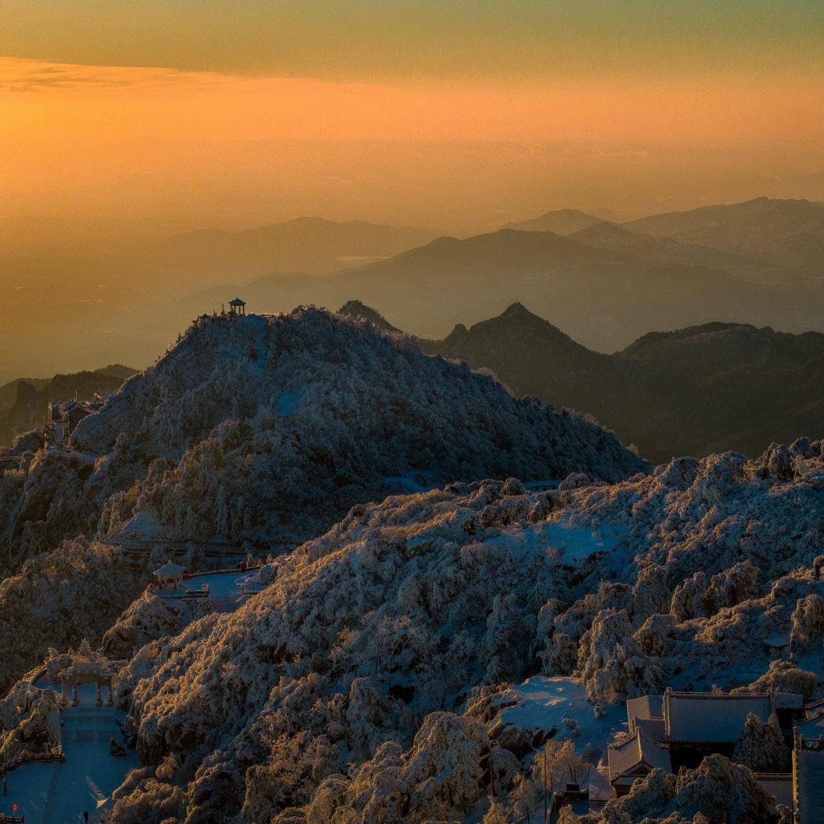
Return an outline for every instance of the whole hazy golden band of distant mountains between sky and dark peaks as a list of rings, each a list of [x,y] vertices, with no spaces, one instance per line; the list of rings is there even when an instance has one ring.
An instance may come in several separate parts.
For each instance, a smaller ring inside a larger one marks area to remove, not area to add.
[[[822,215],[824,204],[770,199],[624,224],[561,210],[464,239],[299,218],[129,241],[91,258],[44,252],[26,260],[42,283],[13,286],[12,268],[2,290],[0,378],[101,358],[150,363],[192,317],[237,294],[272,312],[357,295],[428,338],[522,302],[601,352],[709,321],[824,330]]]

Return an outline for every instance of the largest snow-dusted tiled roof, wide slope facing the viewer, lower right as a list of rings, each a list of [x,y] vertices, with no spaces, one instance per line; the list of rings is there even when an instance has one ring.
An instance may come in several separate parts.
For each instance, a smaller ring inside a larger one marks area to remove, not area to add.
[[[772,712],[770,695],[664,693],[663,715],[669,742],[732,743],[744,728],[747,715],[766,721]]]

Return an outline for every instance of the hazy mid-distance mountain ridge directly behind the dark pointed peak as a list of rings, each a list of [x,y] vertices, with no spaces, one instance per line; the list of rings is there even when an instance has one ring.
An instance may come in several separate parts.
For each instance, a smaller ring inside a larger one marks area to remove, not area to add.
[[[597,228],[584,232],[594,236]],[[598,231],[597,245],[575,236],[513,229],[462,240],[442,237],[322,282],[272,275],[242,289],[213,288],[198,296],[199,305],[214,306],[238,290],[262,311],[307,302],[339,306],[358,295],[394,325],[438,337],[456,323],[480,321],[519,301],[602,352],[620,349],[651,329],[713,320],[797,332],[822,328],[821,293],[814,284],[755,283],[707,263],[733,258],[731,268],[740,272],[749,266],[764,280],[765,266],[758,263],[700,250],[698,262],[689,264],[687,246],[656,238],[635,241],[631,235],[632,242],[623,243],[615,238],[629,234],[623,229]],[[606,234],[612,236],[609,246]]]

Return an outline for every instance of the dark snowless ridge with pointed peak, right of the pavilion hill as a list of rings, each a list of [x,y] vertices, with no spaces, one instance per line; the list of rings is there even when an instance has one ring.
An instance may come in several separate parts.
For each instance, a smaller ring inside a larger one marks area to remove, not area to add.
[[[371,311],[363,316],[376,322]],[[422,345],[491,369],[517,396],[592,413],[653,463],[725,449],[757,455],[771,442],[824,437],[820,333],[709,323],[603,355],[516,303]]]

